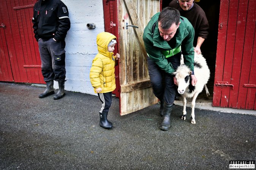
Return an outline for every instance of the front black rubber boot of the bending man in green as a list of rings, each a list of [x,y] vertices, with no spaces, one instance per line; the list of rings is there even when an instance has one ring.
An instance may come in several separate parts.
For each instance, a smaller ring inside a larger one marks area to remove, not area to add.
[[[163,120],[160,125],[161,130],[169,130],[171,127],[171,120],[170,120],[170,115],[172,111],[173,105],[168,105],[166,102],[164,102],[164,114],[163,114]]]

